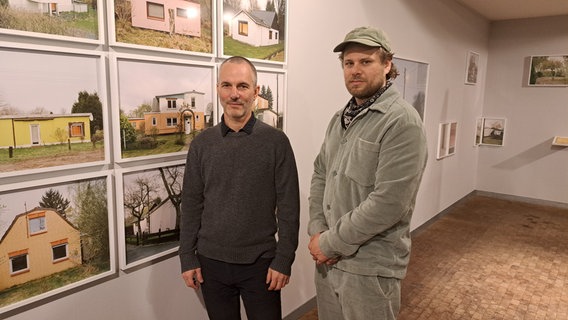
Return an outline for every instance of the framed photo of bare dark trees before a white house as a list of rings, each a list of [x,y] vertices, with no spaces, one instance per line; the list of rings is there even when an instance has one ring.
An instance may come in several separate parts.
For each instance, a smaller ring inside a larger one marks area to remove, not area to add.
[[[177,252],[184,171],[185,161],[116,170],[121,269]]]

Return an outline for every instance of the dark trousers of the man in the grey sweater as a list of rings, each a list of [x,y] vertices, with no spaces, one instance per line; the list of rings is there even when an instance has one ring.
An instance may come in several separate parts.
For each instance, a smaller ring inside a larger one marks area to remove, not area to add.
[[[281,320],[280,291],[269,291],[266,284],[271,261],[259,258],[252,264],[234,264],[199,256],[209,319],[241,319],[242,298],[249,320]]]

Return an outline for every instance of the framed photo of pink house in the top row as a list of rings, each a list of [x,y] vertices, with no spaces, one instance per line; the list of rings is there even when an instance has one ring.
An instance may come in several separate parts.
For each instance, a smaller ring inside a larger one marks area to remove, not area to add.
[[[215,0],[110,0],[111,46],[211,56]]]

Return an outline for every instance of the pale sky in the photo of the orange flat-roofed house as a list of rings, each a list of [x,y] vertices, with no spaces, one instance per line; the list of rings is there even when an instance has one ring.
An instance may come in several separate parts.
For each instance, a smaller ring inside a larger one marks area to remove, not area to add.
[[[128,114],[155,96],[198,91],[212,102],[213,69],[183,64],[118,60],[120,108]],[[205,108],[206,106],[203,106]]]

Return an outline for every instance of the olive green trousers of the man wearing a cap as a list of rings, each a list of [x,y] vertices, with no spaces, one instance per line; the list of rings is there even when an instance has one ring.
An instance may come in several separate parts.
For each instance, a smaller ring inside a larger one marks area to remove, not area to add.
[[[327,265],[316,266],[320,320],[395,320],[400,310],[400,279],[363,276]]]

